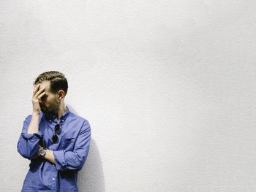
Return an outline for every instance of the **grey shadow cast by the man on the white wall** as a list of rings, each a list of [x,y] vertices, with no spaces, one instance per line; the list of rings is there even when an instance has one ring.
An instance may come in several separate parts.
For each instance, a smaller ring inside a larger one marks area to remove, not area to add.
[[[72,107],[69,105],[67,105],[67,107],[69,107],[71,112],[78,115],[78,113],[75,112]],[[92,132],[93,131],[91,131],[91,133]],[[105,192],[105,180],[102,169],[102,161],[100,159],[97,144],[91,137],[90,149],[86,163],[83,165],[83,169],[78,172],[79,192]]]

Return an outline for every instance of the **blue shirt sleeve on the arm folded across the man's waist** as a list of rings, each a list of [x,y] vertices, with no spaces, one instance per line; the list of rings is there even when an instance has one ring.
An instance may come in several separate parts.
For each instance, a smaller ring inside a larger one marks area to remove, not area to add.
[[[56,169],[64,171],[67,169],[77,169],[78,171],[83,168],[89,153],[91,141],[91,126],[88,121],[83,123],[83,126],[75,142],[74,150],[55,150],[53,151]]]

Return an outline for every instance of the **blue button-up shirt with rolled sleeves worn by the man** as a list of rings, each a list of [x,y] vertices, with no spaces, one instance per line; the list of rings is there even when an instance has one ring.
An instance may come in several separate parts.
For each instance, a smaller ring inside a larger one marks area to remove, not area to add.
[[[88,120],[67,107],[59,119],[61,128],[56,143],[52,140],[54,126],[58,124],[55,116],[41,112],[39,131],[35,134],[27,134],[30,120],[31,115],[24,120],[17,145],[18,153],[31,161],[22,191],[78,191],[78,171],[86,161],[91,141]],[[53,150],[55,164],[44,158],[33,158],[38,153],[38,145]]]

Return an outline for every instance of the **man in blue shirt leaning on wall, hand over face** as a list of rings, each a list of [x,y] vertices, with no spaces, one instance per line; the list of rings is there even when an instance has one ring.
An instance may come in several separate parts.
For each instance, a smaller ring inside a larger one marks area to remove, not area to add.
[[[18,153],[31,160],[22,191],[78,191],[78,171],[89,153],[88,120],[64,103],[67,79],[56,71],[39,74],[34,82],[33,112],[23,122]],[[42,111],[42,112],[41,112]]]

